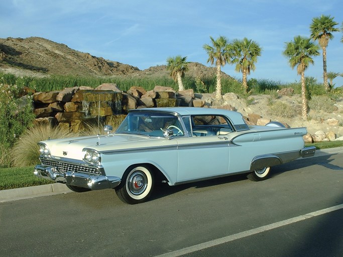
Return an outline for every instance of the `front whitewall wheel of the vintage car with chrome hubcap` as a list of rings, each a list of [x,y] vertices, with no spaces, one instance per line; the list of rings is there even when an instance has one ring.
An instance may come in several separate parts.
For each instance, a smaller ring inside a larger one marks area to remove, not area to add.
[[[146,166],[130,167],[123,176],[122,183],[115,188],[123,202],[137,204],[145,202],[153,189],[154,176]]]

